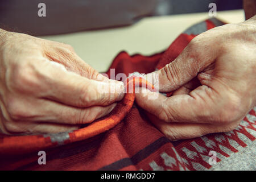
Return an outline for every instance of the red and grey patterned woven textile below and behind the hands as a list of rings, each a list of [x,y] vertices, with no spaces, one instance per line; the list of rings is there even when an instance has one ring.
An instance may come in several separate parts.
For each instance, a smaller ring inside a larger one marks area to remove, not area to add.
[[[115,68],[115,74],[150,73],[173,61],[196,35],[222,24],[217,19],[198,23],[178,36],[165,52],[152,56],[129,56],[121,52],[110,68]],[[110,75],[110,69],[107,74]],[[119,112],[123,113],[122,110]],[[228,133],[171,142],[151,125],[142,109],[131,104],[121,122],[87,139],[77,139],[79,136],[73,135],[74,132],[30,136],[26,144],[37,140],[38,148],[31,150],[20,138],[12,143],[13,148],[5,150],[11,143],[6,143],[9,137],[2,135],[0,169],[255,170],[255,112],[256,107],[243,118],[237,129]],[[116,113],[112,114],[114,118]],[[40,145],[42,140],[48,145]],[[39,150],[46,151],[46,165],[38,164]],[[210,151],[216,152],[217,164],[209,164]]]

